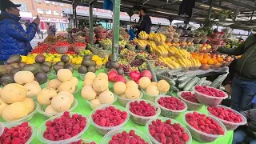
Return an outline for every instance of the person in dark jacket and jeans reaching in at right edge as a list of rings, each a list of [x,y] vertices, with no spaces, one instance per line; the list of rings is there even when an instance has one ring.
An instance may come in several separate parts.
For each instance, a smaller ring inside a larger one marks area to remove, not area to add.
[[[217,51],[229,55],[242,55],[235,66],[231,107],[237,111],[250,109],[251,101],[256,95],[256,34],[250,35],[246,42],[237,48],[219,47]]]

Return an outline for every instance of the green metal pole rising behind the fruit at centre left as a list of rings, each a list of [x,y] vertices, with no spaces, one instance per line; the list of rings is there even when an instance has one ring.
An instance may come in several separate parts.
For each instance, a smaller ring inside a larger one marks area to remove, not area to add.
[[[113,0],[113,30],[114,30],[114,35],[113,35],[113,39],[112,39],[112,54],[114,56],[114,61],[118,61],[120,1],[121,0]]]

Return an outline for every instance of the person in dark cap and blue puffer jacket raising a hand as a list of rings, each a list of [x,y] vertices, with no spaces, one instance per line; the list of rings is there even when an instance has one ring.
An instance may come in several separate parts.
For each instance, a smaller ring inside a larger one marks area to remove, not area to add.
[[[18,7],[10,0],[0,1],[0,61],[6,61],[12,54],[26,55],[31,50],[30,41],[34,38],[39,18],[35,18],[24,30],[19,22]]]

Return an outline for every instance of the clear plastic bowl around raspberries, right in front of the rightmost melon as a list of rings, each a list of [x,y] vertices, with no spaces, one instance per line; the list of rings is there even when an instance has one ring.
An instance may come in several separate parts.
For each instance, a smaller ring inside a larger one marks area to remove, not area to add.
[[[158,99],[160,98],[163,98],[163,97],[166,97],[166,98],[169,98],[169,97],[172,97],[172,96],[160,96],[158,98],[155,99],[155,103],[158,104],[158,106],[160,107],[161,109],[161,114],[167,118],[177,118],[180,114],[182,114],[182,112],[186,111],[187,110],[187,106],[186,106],[186,102],[183,102],[185,108],[183,110],[170,110],[170,109],[167,109],[166,107],[164,106],[161,106],[159,103],[158,103]],[[175,98],[175,97],[174,97]]]

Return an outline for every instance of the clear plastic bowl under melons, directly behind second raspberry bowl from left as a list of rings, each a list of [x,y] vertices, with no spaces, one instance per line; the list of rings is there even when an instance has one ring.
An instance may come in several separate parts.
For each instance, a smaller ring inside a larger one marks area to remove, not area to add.
[[[78,106],[78,100],[76,98],[74,98],[74,102],[72,103],[72,105],[70,106],[70,110],[67,110],[69,112],[73,111],[76,107]],[[64,112],[61,113],[55,113],[55,114],[50,114],[50,113],[46,113],[47,106],[42,106],[40,103],[38,104],[38,113],[45,115],[46,118],[51,118],[54,117],[55,115],[59,115],[59,114],[63,114]]]

